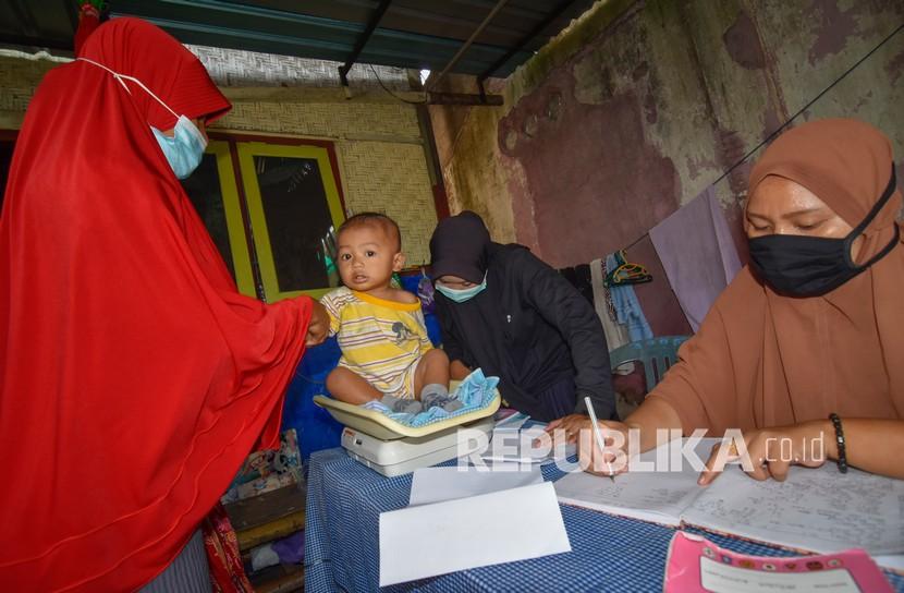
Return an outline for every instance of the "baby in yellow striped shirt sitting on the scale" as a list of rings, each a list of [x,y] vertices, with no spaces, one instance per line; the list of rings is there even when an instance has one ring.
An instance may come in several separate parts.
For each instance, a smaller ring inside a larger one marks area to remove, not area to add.
[[[332,396],[354,404],[379,400],[413,414],[461,408],[449,396],[449,358],[430,343],[420,301],[391,285],[405,265],[399,226],[382,214],[358,214],[339,228],[337,242],[345,286],[320,299],[342,349],[327,377]]]

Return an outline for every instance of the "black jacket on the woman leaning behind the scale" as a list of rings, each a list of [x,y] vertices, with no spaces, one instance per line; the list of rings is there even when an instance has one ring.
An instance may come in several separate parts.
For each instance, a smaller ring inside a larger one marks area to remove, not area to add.
[[[552,420],[543,417],[539,395],[566,379],[576,386],[575,412],[586,413],[590,396],[600,419],[613,417],[609,350],[594,308],[527,247],[488,239],[474,262],[486,270],[486,290],[463,303],[436,293],[449,360],[499,376],[509,404],[537,420]],[[443,274],[454,270],[435,269]]]

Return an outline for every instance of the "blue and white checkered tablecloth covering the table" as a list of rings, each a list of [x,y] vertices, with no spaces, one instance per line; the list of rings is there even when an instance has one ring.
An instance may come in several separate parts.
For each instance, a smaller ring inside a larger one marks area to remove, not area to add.
[[[563,476],[554,464],[543,479]],[[344,449],[310,457],[305,527],[305,591],[379,590],[379,516],[408,505],[412,475],[383,477]],[[562,506],[572,552],[463,570],[386,588],[386,591],[661,591],[665,553],[674,530]],[[512,517],[513,521],[529,518]],[[703,532],[700,532],[703,533]],[[713,543],[757,556],[785,550],[705,534]],[[412,558],[417,561],[417,558]],[[904,577],[887,572],[895,591]]]

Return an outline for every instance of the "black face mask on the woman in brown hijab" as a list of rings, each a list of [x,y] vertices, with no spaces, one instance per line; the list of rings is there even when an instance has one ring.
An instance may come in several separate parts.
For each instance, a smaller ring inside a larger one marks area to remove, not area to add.
[[[818,296],[836,289],[884,257],[900,240],[894,238],[869,262],[858,265],[851,259],[851,244],[891,198],[895,189],[894,166],[891,179],[879,202],[866,218],[844,239],[768,234],[750,239],[750,264],[757,274],[778,292],[791,296]]]

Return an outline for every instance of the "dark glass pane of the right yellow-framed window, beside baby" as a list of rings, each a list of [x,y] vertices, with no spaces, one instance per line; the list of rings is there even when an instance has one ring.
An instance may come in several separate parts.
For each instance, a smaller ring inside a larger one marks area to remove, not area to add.
[[[280,292],[339,286],[335,229],[316,159],[255,156]]]

